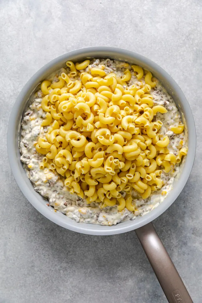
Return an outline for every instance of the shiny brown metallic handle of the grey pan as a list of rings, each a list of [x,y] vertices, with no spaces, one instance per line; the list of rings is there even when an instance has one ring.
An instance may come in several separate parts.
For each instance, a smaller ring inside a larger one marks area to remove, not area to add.
[[[146,224],[135,231],[168,302],[193,303],[153,224]]]

